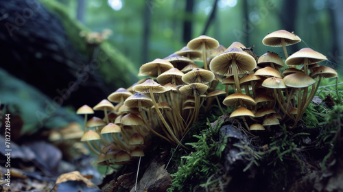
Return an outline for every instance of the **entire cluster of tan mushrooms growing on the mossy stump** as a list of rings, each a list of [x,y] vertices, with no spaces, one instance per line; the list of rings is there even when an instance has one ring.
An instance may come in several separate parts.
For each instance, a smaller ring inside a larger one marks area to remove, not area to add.
[[[300,42],[293,33],[276,31],[262,42],[283,47],[285,62],[276,53],[256,56],[241,43],[234,42],[226,49],[214,38],[199,36],[180,51],[141,65],[138,75],[147,79],[119,88],[93,107],[104,111],[104,119],[87,121],[92,108],[78,110],[85,115],[81,140],[99,156],[98,163],[106,165],[144,156],[150,134],[185,147],[182,137],[214,100],[223,114],[222,104],[235,108],[230,117],[240,117],[248,131],[281,123],[295,128],[322,77],[337,73],[320,66],[318,62],[327,58],[309,48],[288,57],[286,46]],[[296,69],[299,65],[303,67]],[[217,90],[218,84],[223,84],[225,91]],[[228,86],[235,93],[229,95]],[[218,95],[225,95],[222,103]]]

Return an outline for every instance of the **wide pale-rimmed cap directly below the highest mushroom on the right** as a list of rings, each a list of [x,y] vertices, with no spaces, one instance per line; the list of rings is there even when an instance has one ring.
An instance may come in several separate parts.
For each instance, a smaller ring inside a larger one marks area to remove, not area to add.
[[[325,57],[322,53],[319,53],[317,51],[314,51],[311,48],[306,47],[306,48],[300,49],[299,51],[296,51],[291,56],[289,56],[286,59],[285,64],[300,65],[304,63],[305,58],[308,59],[307,61],[308,64],[327,60],[327,57]]]

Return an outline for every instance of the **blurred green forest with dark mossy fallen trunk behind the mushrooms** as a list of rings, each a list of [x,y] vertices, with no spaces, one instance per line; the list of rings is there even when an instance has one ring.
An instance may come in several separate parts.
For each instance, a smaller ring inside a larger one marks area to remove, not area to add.
[[[76,108],[127,88],[137,82],[141,64],[201,34],[224,47],[239,41],[255,46],[257,55],[283,56],[281,47],[266,47],[262,39],[286,29],[303,40],[289,53],[311,47],[341,74],[342,8],[340,0],[3,1],[0,101],[21,117],[22,132],[80,122]],[[84,38],[106,29],[112,34],[101,43]]]

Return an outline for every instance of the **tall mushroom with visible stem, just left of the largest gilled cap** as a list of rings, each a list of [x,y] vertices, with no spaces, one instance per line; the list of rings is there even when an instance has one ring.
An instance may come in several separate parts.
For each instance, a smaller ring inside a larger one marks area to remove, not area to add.
[[[217,49],[217,47],[219,47],[219,42],[214,38],[202,35],[190,40],[189,43],[187,43],[187,47],[192,50],[202,50],[202,60],[204,61],[204,69],[207,70],[206,51],[211,49]]]

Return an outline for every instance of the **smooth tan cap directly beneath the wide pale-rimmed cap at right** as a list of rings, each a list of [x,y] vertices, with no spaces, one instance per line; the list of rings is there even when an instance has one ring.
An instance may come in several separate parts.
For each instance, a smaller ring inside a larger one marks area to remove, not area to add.
[[[308,87],[316,82],[311,77],[305,75],[305,73],[292,73],[290,75],[283,77],[283,81],[287,86],[293,88]]]

